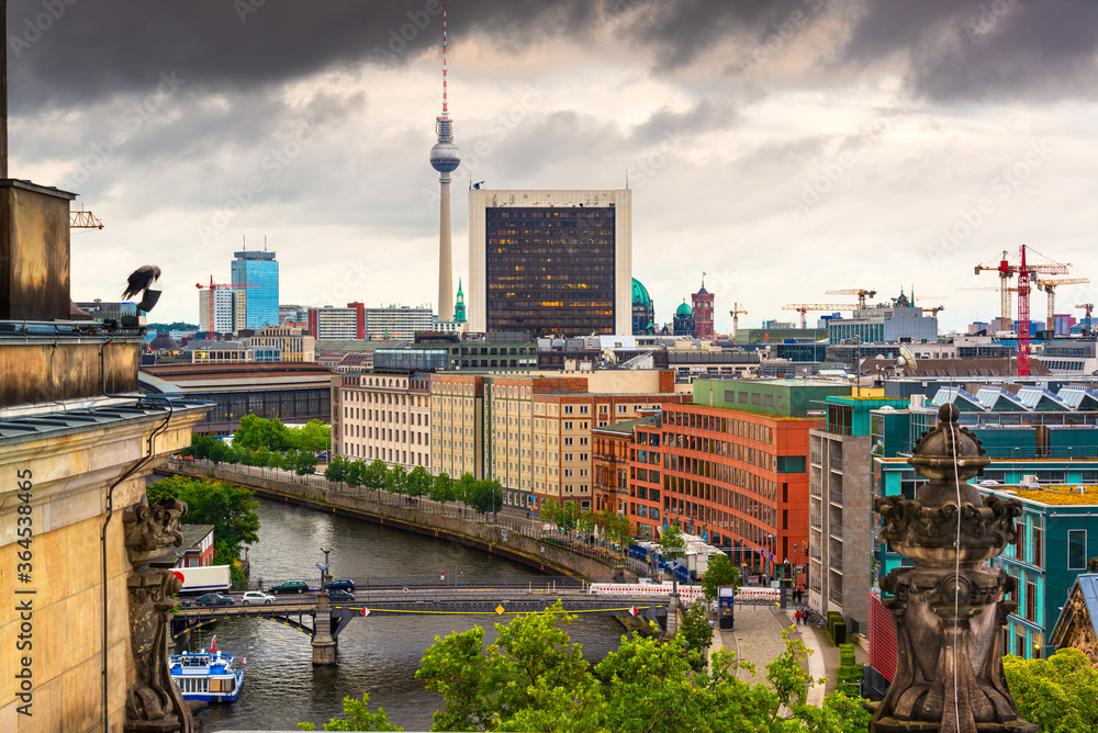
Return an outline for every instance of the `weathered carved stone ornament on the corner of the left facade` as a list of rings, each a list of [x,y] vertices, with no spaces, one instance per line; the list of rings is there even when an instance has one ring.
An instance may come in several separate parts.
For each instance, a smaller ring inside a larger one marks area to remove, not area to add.
[[[168,629],[176,607],[171,599],[182,583],[171,571],[153,570],[149,562],[169,546],[183,543],[179,518],[187,505],[168,499],[125,509],[122,522],[126,556],[133,565],[130,589],[130,646],[137,681],[126,691],[125,730],[134,732],[198,733],[201,723],[168,674]]]

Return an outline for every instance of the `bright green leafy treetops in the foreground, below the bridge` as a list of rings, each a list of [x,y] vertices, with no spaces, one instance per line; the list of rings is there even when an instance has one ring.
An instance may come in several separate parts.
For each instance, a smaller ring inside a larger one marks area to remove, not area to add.
[[[818,720],[805,706],[807,650],[787,634],[785,652],[766,667],[768,684],[752,685],[737,678],[740,665],[724,650],[707,670],[698,650],[639,635],[623,639],[592,668],[568,635],[574,618],[559,604],[520,616],[496,624],[498,641],[488,646],[479,627],[436,636],[416,672],[442,698],[432,730],[795,733]],[[836,696],[825,710],[864,725],[867,713],[849,700]],[[808,730],[853,730],[838,725]]]

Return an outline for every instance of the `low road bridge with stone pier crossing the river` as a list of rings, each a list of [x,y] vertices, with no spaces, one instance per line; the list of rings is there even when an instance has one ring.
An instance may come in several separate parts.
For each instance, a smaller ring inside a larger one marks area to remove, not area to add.
[[[523,578],[525,579],[525,578]],[[179,641],[190,630],[232,618],[258,618],[276,621],[312,638],[313,663],[334,664],[340,632],[356,619],[407,614],[478,614],[514,617],[538,613],[560,601],[569,613],[639,616],[649,621],[665,619],[670,595],[647,590],[603,591],[575,578],[552,578],[538,584],[507,584],[467,579],[462,585],[426,585],[424,578],[404,585],[359,586],[355,601],[332,604],[327,594],[276,596],[271,604],[233,606],[188,606],[177,609],[171,636]],[[643,588],[643,586],[639,586]],[[327,618],[328,623],[323,619]]]

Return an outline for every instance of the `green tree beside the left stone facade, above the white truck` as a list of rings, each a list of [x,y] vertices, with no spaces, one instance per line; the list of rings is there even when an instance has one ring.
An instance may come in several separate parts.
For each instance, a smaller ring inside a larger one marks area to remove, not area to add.
[[[170,476],[152,484],[150,504],[175,498],[187,503],[184,525],[213,525],[214,542],[224,544],[232,557],[240,556],[240,546],[259,541],[259,507],[251,492],[223,481],[201,481],[187,476]]]

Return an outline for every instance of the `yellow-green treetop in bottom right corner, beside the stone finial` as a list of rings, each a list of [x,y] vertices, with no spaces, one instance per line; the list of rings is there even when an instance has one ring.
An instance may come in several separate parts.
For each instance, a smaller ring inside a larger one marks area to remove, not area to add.
[[[1018,711],[1042,733],[1098,725],[1098,670],[1077,649],[1062,649],[1047,659],[1004,656],[1002,668]]]

